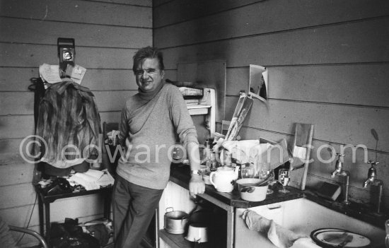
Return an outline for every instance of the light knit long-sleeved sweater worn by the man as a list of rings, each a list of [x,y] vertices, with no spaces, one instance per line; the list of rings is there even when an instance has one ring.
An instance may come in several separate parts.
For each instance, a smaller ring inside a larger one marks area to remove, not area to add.
[[[125,141],[126,155],[118,161],[117,175],[143,187],[164,189],[178,140],[184,147],[189,142],[198,144],[178,88],[166,83],[151,96],[137,93],[122,110],[119,141]]]

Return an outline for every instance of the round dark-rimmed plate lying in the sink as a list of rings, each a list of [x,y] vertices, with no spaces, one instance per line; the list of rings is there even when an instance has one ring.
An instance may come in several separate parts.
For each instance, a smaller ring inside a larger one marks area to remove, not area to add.
[[[362,248],[368,247],[371,244],[371,240],[364,235],[338,228],[321,228],[310,232],[310,237],[313,241],[320,246],[328,248],[337,247],[338,244],[344,241],[345,235],[352,235],[353,238],[344,248]]]

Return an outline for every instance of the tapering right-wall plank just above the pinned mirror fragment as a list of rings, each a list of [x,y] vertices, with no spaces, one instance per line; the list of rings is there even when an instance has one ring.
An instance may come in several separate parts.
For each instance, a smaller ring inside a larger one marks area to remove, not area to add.
[[[226,59],[227,66],[339,64],[389,60],[389,18],[164,49],[166,68],[178,61]],[[335,39],[336,37],[336,39]]]

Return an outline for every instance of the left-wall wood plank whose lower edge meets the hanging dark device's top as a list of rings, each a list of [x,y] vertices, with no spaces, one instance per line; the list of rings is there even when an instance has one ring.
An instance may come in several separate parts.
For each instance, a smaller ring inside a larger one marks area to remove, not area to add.
[[[72,37],[77,46],[140,48],[148,40],[151,45],[152,30],[110,25],[59,23],[57,21],[0,18],[0,42],[20,42],[57,45],[58,37]],[[50,32],[47,32],[50,30]],[[88,35],[86,35],[88,34]],[[78,54],[77,54],[78,55]]]

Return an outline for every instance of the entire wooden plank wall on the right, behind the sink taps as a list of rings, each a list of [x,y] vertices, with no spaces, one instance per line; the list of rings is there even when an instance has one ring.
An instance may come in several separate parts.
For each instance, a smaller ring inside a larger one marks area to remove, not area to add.
[[[294,135],[294,123],[315,124],[308,186],[331,178],[330,145],[346,150],[350,196],[370,201],[363,188],[368,165],[378,160],[389,206],[389,2],[344,1],[153,1],[153,44],[163,49],[167,75],[177,64],[225,59],[226,119],[239,90],[247,90],[249,64],[269,71],[267,105],[256,101],[240,136],[277,141]],[[375,129],[379,141],[373,138]],[[325,146],[323,146],[325,145]],[[367,158],[366,158],[367,157]]]

